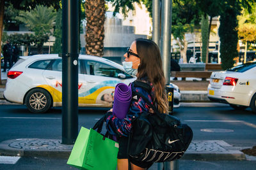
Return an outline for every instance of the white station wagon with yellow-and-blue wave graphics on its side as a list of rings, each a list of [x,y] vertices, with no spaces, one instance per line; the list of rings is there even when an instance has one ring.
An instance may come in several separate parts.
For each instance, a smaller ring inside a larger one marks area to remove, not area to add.
[[[111,107],[116,84],[128,85],[136,80],[120,64],[90,55],[79,55],[78,72],[79,106]],[[57,54],[20,57],[7,76],[6,101],[26,104],[33,113],[61,106],[62,60]],[[179,92],[176,89],[175,93]],[[179,107],[179,103],[175,106]]]

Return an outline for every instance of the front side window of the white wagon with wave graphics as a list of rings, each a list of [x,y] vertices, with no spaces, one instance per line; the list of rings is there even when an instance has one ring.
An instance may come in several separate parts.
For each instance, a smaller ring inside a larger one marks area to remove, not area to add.
[[[125,78],[133,78],[131,75],[125,73],[124,71],[116,67],[94,60],[86,60],[86,72],[90,73],[90,75],[108,76],[115,78],[118,78],[118,74],[122,73],[125,74]]]

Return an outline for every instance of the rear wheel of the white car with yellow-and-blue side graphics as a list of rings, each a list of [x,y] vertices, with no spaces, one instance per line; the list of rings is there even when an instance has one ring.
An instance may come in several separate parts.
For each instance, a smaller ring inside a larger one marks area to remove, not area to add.
[[[33,113],[45,113],[51,108],[52,98],[44,89],[32,89],[26,95],[26,106]]]

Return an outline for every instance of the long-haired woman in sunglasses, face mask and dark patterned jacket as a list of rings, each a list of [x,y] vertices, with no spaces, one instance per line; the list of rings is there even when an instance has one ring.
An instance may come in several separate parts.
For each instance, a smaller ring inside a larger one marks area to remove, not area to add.
[[[152,86],[152,92],[148,94],[140,87],[134,87],[131,84],[132,91],[137,91],[148,97],[150,103],[155,104],[160,113],[168,113],[168,101],[164,91],[165,79],[162,67],[161,55],[159,48],[154,41],[148,39],[136,39],[132,42],[130,48],[124,54],[124,68],[129,73],[136,74],[138,81],[144,81]],[[109,111],[112,111],[109,110]],[[146,104],[142,98],[132,100],[129,113],[124,119],[119,119],[115,115],[107,118],[106,127],[110,134],[118,137],[119,151],[117,167],[118,169],[128,169],[127,145],[129,132],[131,131],[132,118],[139,117],[140,113],[147,111],[154,113],[152,108]],[[134,129],[136,131],[136,129]],[[131,167],[134,170],[148,169],[152,163],[136,162],[131,160]]]

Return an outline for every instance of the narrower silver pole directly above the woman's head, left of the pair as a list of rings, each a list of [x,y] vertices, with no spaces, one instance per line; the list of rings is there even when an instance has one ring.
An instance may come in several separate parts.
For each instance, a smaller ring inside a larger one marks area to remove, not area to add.
[[[153,41],[159,46],[160,39],[160,4],[159,0],[153,0],[152,2],[152,22],[153,22]]]

